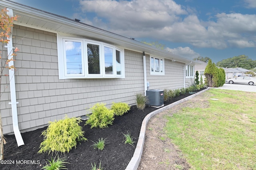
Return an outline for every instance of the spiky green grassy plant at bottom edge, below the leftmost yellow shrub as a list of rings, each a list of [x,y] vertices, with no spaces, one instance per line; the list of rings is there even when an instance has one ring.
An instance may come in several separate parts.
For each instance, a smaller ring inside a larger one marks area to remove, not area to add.
[[[56,159],[56,156],[55,156],[54,159],[53,158],[51,158],[51,160],[47,159],[49,164],[47,164],[47,162],[46,162],[46,166],[43,166],[42,169],[43,170],[62,170],[62,169],[66,169],[66,166],[64,164],[69,164],[69,162],[65,162],[66,158],[65,157],[59,158],[59,155],[58,155],[58,158]]]

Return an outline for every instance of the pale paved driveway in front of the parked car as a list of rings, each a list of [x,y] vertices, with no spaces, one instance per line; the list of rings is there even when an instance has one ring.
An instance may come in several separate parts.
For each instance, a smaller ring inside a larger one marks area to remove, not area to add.
[[[245,92],[256,92],[256,84],[249,85],[249,84],[229,84],[225,83],[222,87],[218,87],[220,89],[227,89],[227,90],[240,90]]]

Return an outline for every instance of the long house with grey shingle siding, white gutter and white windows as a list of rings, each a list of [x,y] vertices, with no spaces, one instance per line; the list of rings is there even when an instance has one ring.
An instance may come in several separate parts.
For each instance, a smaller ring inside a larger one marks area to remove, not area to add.
[[[196,61],[9,0],[0,1],[4,7],[20,16],[12,31],[13,45],[20,49],[15,88],[8,86],[8,76],[2,77],[5,134],[15,133],[15,126],[38,129],[65,114],[86,115],[98,102],[134,105],[147,82],[149,89],[177,89],[194,80]]]

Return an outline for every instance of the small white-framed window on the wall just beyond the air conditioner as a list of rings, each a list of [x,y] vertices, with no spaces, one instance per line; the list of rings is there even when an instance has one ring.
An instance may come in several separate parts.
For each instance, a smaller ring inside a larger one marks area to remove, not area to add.
[[[164,75],[164,59],[150,57],[150,74]]]

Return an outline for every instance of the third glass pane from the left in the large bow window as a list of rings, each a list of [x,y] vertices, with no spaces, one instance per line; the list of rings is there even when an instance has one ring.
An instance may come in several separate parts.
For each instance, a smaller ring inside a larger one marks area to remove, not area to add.
[[[113,74],[113,49],[104,47],[105,74]]]

